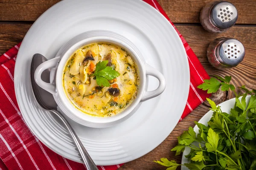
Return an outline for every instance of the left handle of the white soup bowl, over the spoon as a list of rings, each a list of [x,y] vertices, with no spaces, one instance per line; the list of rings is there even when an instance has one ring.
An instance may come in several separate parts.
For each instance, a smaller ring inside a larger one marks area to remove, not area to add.
[[[35,70],[35,82],[44,90],[48,91],[51,94],[56,94],[55,91],[55,85],[52,83],[44,82],[41,79],[41,74],[44,70],[48,68],[54,68],[59,61],[59,57],[55,57],[53,59],[49,59],[46,62],[43,62],[42,64],[38,65],[38,68]]]

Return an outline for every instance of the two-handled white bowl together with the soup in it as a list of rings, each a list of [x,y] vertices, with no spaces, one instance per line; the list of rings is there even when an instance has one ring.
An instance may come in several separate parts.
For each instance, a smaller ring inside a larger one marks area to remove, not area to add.
[[[48,68],[53,83],[41,80]],[[146,91],[146,76],[159,86]],[[67,42],[55,58],[38,66],[35,80],[52,93],[64,113],[81,125],[110,127],[128,119],[141,102],[163,93],[163,75],[145,64],[139,50],[111,31],[88,31]]]

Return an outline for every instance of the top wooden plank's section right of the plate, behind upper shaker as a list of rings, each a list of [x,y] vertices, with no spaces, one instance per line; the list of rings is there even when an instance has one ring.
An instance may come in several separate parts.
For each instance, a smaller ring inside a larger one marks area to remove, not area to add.
[[[201,9],[213,0],[158,0],[173,23],[200,23]],[[227,0],[239,13],[237,23],[256,24],[256,0]]]

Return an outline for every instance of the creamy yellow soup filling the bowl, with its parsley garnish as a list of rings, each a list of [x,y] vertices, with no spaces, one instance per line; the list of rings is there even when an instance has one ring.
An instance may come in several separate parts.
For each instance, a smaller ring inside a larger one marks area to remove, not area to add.
[[[127,108],[136,98],[139,73],[125,49],[92,43],[75,51],[63,72],[67,97],[84,113],[105,117]]]

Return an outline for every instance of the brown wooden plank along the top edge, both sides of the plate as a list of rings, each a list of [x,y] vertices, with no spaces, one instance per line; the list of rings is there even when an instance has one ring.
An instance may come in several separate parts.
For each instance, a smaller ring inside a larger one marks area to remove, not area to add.
[[[60,0],[0,0],[0,20],[35,21]],[[173,23],[199,23],[201,8],[212,0],[158,0]],[[239,24],[256,24],[255,0],[229,0],[239,11]]]

